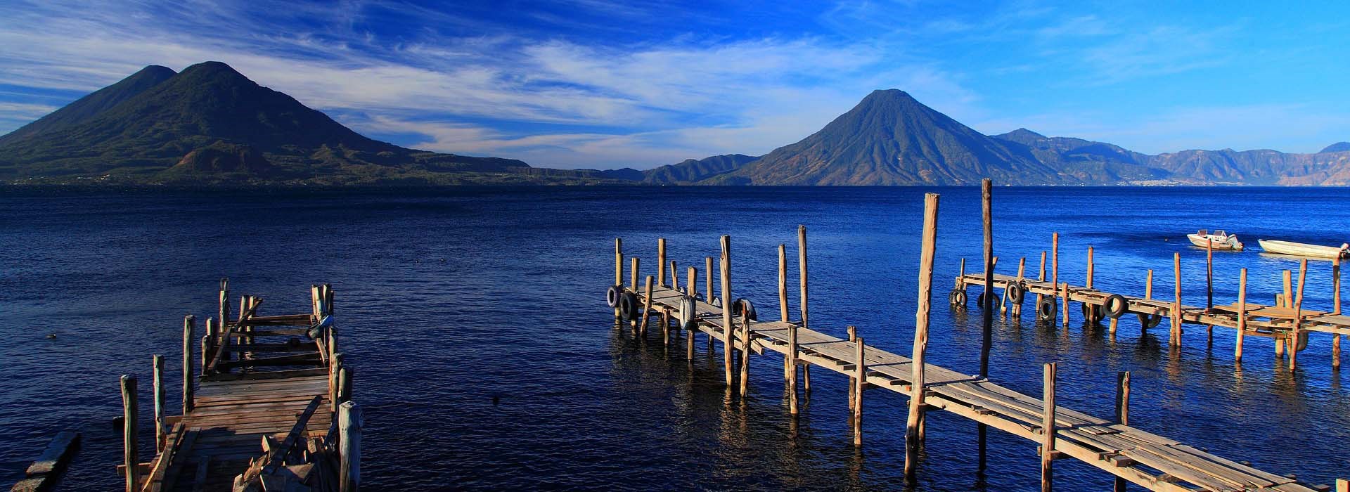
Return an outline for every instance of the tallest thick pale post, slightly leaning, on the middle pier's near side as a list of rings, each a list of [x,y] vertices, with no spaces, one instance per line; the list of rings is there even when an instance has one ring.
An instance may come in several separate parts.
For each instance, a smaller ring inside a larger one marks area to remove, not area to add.
[[[927,350],[933,298],[933,256],[937,248],[938,194],[923,197],[923,240],[919,249],[919,297],[914,313],[914,352],[910,364],[910,414],[905,421],[905,477],[914,484],[919,460],[919,421],[923,417],[923,355]]]

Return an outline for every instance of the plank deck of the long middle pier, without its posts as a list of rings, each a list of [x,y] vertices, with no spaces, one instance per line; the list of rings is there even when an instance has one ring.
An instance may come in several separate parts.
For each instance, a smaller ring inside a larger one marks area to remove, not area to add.
[[[634,293],[645,303],[643,291]],[[652,290],[655,311],[678,313],[683,293],[670,287]],[[722,309],[697,302],[697,330],[725,344]],[[733,318],[733,338],[744,344],[741,317]],[[856,376],[857,344],[782,321],[751,321],[751,350],[788,352],[788,330],[796,329],[796,359],[842,375]],[[864,346],[864,368],[869,388],[884,388],[909,396],[911,360],[875,346]],[[1018,394],[990,380],[963,375],[932,364],[923,365],[925,404],[986,423],[1026,439],[1040,442],[1045,406],[1041,399]],[[1087,462],[1152,491],[1303,491],[1307,484],[1238,464],[1137,427],[1119,425],[1084,412],[1056,407],[1054,450]]]

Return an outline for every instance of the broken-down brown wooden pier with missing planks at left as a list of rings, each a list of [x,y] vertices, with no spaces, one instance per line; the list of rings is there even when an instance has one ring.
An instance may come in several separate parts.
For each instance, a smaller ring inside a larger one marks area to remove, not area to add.
[[[230,297],[223,279],[200,338],[194,317],[184,319],[181,415],[165,415],[163,359],[153,357],[157,453],[146,462],[136,377],[122,376],[126,491],[356,491],[360,406],[338,350],[332,287],[310,287],[305,314],[261,315],[262,298],[244,295],[234,315]]]

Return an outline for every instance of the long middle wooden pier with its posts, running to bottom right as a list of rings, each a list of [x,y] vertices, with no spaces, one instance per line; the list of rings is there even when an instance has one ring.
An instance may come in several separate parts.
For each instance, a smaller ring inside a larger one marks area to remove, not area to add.
[[[988,185],[987,190],[988,190]],[[799,406],[798,379],[810,391],[810,368],[818,367],[849,377],[849,407],[853,442],[863,442],[863,395],[869,390],[886,390],[909,398],[906,422],[905,470],[909,479],[917,473],[918,449],[922,446],[926,418],[930,410],[945,410],[980,423],[1040,443],[1042,491],[1053,484],[1053,461],[1073,458],[1116,477],[1116,491],[1133,483],[1150,491],[1326,491],[1296,479],[1269,473],[1226,460],[1199,446],[1185,445],[1129,425],[1129,373],[1116,380],[1116,411],[1110,419],[1098,418],[1054,403],[1056,364],[1045,365],[1041,398],[1018,394],[994,383],[986,376],[972,376],[925,363],[932,298],[933,257],[937,236],[938,195],[929,194],[925,204],[925,228],[919,266],[919,307],[914,325],[913,353],[906,357],[867,345],[861,333],[848,326],[848,338],[826,334],[818,329],[819,321],[809,318],[807,310],[807,256],[806,228],[798,230],[801,297],[799,310],[788,309],[787,252],[779,245],[779,313],[778,321],[760,321],[753,303],[732,294],[730,237],[721,239],[720,294],[714,295],[711,257],[706,259],[705,288],[698,290],[698,272],[686,270],[686,282],[679,282],[678,266],[667,263],[666,240],[657,243],[656,275],[639,283],[637,257],[630,257],[625,283],[622,241],[614,244],[614,286],[608,298],[614,309],[617,326],[645,337],[651,328],[659,328],[664,344],[678,344],[683,333],[687,357],[694,360],[695,336],[703,333],[709,342],[721,342],[728,391],[745,395],[749,384],[751,356],[768,352],[783,355],[783,381],[787,387],[788,412],[796,415]],[[988,236],[987,236],[988,237]],[[991,262],[992,263],[992,262]],[[670,275],[667,276],[667,267]],[[964,279],[964,276],[963,276]],[[652,319],[656,318],[655,324]],[[655,325],[655,326],[652,326]],[[988,357],[988,352],[983,352]],[[981,368],[987,367],[987,360]],[[981,369],[983,371],[983,369]],[[983,453],[980,458],[984,462]],[[1338,481],[1339,487],[1347,487]]]

